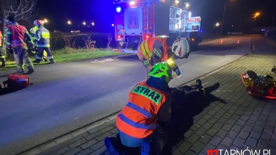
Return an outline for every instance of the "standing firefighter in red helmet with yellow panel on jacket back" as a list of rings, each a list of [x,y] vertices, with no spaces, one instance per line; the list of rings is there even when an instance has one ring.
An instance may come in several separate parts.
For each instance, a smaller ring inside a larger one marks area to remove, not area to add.
[[[44,28],[43,21],[37,20],[38,29],[35,33],[34,43],[37,47],[38,53],[36,55],[35,63],[39,63],[43,57],[43,51],[45,50],[48,59],[51,64],[54,64],[54,57],[52,55],[52,51],[50,49],[50,32],[46,28]]]

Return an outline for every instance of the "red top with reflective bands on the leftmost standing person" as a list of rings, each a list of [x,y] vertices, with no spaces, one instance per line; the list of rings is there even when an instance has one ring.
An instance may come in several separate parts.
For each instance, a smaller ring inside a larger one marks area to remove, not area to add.
[[[7,45],[12,47],[24,47],[27,44],[24,42],[24,39],[27,39],[30,43],[31,38],[28,31],[22,25],[17,23],[12,24],[8,27],[7,30]]]

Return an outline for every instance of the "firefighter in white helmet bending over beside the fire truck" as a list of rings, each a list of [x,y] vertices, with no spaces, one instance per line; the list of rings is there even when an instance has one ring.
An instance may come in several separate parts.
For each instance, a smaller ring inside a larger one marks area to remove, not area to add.
[[[148,71],[156,63],[168,61],[172,70],[179,77],[181,73],[173,57],[176,55],[180,59],[188,58],[189,53],[190,46],[185,38],[177,39],[168,36],[155,36],[140,44],[137,55]]]

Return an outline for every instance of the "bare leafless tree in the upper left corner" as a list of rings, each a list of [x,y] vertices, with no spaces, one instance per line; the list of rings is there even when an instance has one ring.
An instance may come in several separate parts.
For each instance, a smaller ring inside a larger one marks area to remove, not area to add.
[[[7,17],[15,16],[16,20],[25,20],[32,17],[37,0],[0,0],[0,20],[4,25],[3,48],[6,47]]]

